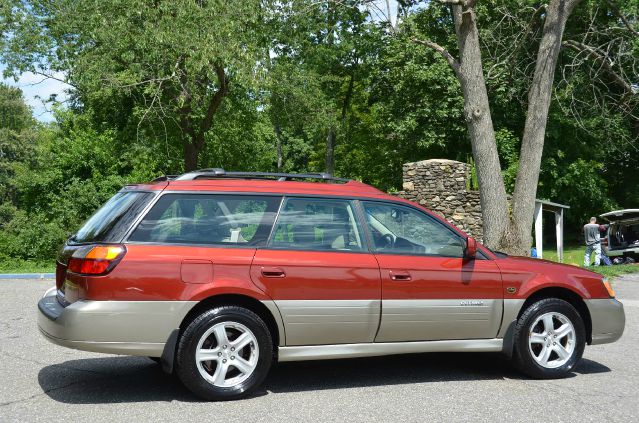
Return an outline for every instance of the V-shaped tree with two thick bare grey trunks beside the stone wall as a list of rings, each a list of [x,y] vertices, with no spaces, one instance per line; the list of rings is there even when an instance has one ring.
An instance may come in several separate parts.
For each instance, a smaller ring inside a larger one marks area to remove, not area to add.
[[[460,82],[464,96],[464,117],[477,164],[484,241],[491,248],[520,255],[528,253],[557,59],[566,22],[579,1],[551,0],[544,13],[535,72],[528,93],[528,110],[512,196],[512,213],[501,174],[484,78],[476,0],[442,0],[452,10],[459,49],[457,58],[429,39],[413,39],[415,43],[433,49],[446,59]]]

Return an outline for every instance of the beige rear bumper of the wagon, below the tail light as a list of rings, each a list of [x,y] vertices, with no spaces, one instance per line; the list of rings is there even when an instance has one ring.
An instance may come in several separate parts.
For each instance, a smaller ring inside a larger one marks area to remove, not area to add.
[[[84,351],[160,357],[192,301],[76,301],[63,307],[55,289],[38,302],[38,327],[54,344]]]

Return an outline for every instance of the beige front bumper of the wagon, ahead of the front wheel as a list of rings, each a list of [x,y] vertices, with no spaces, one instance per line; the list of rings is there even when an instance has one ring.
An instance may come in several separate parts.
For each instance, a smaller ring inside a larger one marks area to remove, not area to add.
[[[615,342],[623,334],[626,315],[623,304],[614,298],[587,300],[592,320],[592,345]]]

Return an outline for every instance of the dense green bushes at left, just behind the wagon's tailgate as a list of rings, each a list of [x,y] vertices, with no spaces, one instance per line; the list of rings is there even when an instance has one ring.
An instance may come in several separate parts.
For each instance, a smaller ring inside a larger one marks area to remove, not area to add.
[[[59,112],[57,125],[40,127],[29,160],[12,160],[0,205],[2,259],[53,257],[68,234],[124,184],[157,174],[158,159],[139,146],[96,132],[90,117]],[[22,149],[18,149],[22,151]]]

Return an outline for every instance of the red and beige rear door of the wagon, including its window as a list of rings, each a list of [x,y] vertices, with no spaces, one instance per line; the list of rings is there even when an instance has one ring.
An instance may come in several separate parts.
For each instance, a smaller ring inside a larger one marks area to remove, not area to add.
[[[381,280],[352,202],[286,198],[251,277],[277,304],[286,345],[373,342]]]

